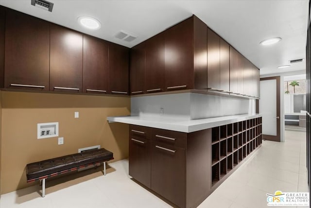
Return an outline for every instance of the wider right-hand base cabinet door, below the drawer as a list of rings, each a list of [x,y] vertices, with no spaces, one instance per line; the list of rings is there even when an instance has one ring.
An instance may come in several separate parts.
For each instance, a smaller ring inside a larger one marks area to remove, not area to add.
[[[186,198],[185,149],[152,141],[151,189],[185,207]]]

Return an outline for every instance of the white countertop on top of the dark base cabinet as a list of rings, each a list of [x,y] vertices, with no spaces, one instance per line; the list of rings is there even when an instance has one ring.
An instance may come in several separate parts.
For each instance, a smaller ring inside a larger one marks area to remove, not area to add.
[[[190,133],[261,116],[261,114],[240,114],[196,120],[181,120],[167,117],[140,117],[128,115],[109,116],[107,117],[107,121]]]

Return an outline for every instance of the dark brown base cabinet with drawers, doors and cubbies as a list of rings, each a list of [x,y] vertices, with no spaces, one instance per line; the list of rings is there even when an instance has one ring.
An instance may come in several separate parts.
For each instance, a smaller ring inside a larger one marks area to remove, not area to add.
[[[191,133],[129,131],[129,175],[180,208],[200,205],[262,142],[261,117]]]

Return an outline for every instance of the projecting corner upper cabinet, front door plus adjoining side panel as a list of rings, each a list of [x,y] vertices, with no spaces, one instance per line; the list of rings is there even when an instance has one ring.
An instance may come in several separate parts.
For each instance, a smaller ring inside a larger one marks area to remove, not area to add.
[[[206,37],[206,24],[195,16],[165,31],[166,91],[207,88]]]

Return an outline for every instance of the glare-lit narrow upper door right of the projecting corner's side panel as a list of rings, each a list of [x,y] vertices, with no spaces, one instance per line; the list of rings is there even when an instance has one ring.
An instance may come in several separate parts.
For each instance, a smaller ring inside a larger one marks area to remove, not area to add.
[[[207,28],[207,89],[220,90],[220,38]]]

